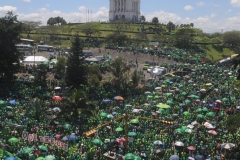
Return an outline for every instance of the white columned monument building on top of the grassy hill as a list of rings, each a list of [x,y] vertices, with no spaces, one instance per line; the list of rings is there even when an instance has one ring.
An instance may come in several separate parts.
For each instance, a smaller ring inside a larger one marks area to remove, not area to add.
[[[140,18],[140,0],[110,0],[109,21]]]

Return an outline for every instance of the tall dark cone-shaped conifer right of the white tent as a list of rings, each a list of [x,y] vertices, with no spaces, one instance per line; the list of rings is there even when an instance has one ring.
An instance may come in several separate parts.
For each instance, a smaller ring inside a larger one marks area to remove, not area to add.
[[[83,41],[76,35],[72,41],[71,53],[67,60],[66,82],[74,87],[87,84],[87,67],[84,63]]]

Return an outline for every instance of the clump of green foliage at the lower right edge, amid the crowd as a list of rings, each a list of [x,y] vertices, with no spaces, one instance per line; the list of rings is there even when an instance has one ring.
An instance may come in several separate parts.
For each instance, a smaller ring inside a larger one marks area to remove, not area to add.
[[[228,116],[227,120],[225,121],[225,124],[227,126],[228,131],[235,131],[240,127],[240,114],[234,114]]]

